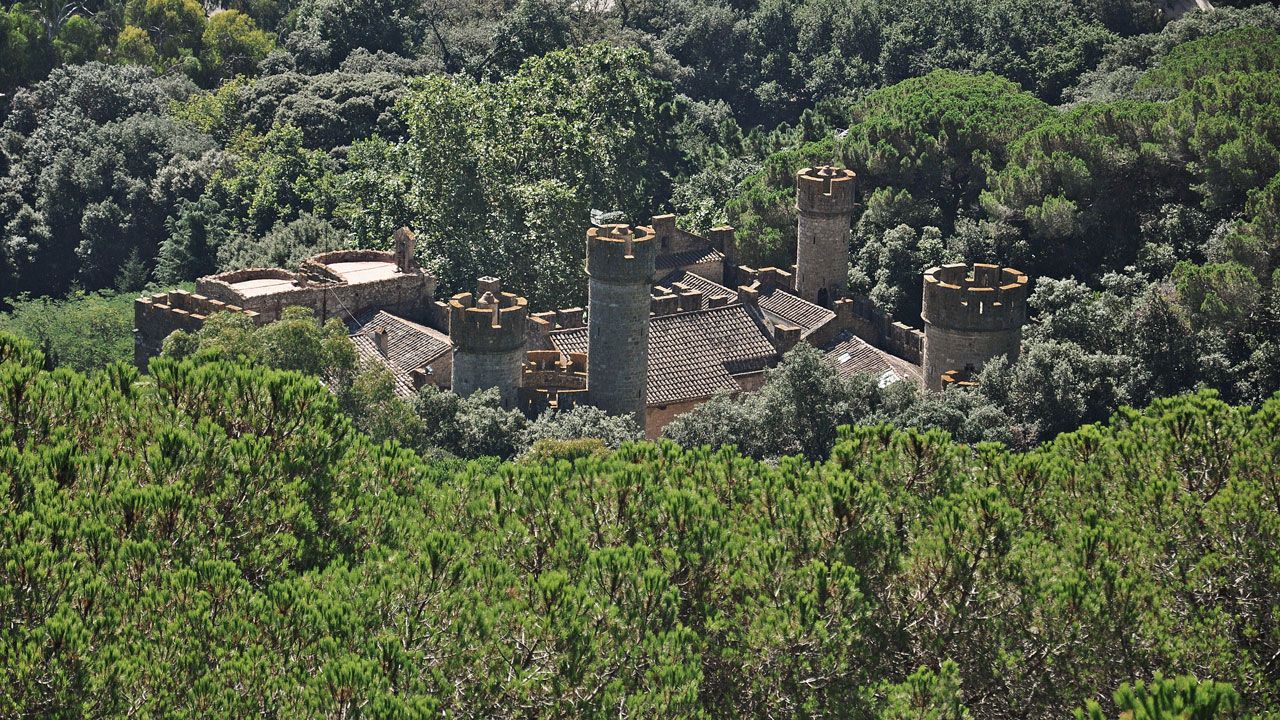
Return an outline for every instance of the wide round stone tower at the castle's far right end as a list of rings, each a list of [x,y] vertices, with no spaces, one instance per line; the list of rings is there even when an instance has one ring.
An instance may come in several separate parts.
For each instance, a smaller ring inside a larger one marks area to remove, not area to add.
[[[924,387],[948,370],[975,373],[995,357],[1018,359],[1027,323],[1027,275],[1012,268],[952,263],[924,273]]]

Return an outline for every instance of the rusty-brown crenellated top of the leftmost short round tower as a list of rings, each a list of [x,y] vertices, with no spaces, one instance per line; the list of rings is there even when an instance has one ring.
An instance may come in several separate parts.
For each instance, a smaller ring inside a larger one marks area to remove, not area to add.
[[[480,278],[475,293],[449,299],[449,337],[462,352],[509,352],[525,345],[529,301],[502,292],[497,278]]]

